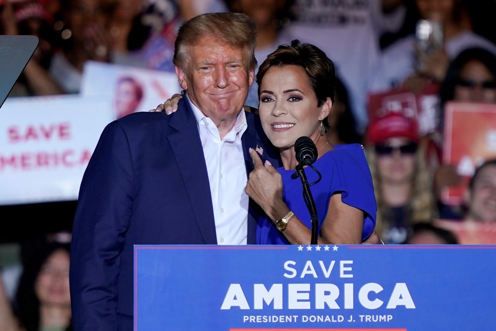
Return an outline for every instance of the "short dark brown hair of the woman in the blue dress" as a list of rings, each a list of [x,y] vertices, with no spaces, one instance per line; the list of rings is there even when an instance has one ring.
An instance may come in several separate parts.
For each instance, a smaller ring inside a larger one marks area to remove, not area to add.
[[[301,66],[307,73],[310,85],[317,96],[317,106],[330,98],[334,103],[334,85],[336,84],[336,72],[334,63],[318,47],[310,44],[301,44],[299,40],[293,40],[291,46],[281,45],[258,68],[256,81],[258,83],[258,95],[260,95],[260,83],[263,76],[271,66]]]

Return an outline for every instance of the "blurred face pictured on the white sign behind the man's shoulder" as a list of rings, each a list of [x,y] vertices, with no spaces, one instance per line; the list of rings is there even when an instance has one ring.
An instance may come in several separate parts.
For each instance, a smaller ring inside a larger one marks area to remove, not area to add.
[[[117,112],[116,118],[120,119],[136,111],[143,99],[143,87],[130,76],[124,76],[117,80],[114,105]]]

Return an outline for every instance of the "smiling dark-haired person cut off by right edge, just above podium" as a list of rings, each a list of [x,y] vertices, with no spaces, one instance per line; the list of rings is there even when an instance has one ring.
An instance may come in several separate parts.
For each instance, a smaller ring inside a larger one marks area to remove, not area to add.
[[[465,219],[496,221],[496,159],[487,160],[476,169],[464,201],[467,205]]]

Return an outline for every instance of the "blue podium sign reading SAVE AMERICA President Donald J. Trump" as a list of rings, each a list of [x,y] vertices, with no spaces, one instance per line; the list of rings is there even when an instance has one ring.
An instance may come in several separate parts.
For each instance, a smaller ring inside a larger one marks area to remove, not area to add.
[[[135,246],[134,330],[496,330],[496,246]]]

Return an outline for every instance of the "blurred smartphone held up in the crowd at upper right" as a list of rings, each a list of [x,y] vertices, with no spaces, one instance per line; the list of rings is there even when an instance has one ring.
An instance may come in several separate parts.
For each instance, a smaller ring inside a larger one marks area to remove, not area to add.
[[[444,33],[438,21],[421,19],[415,28],[415,66],[418,71],[426,69],[425,61],[443,48]]]

